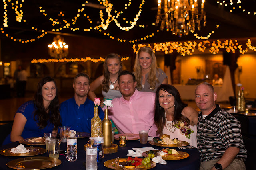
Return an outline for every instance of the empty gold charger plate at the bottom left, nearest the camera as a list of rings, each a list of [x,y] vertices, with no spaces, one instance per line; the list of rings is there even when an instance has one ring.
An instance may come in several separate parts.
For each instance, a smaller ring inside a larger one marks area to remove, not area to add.
[[[52,168],[61,164],[61,161],[50,157],[26,157],[11,160],[6,165],[16,170],[41,170]]]

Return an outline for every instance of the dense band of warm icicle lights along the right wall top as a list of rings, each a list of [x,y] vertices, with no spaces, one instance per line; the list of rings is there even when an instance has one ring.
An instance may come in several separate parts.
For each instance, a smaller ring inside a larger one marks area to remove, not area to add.
[[[247,40],[247,47],[253,51],[256,51],[256,47],[251,45],[251,40]],[[133,45],[134,53],[138,53],[138,49],[140,47],[146,46],[145,44],[139,44],[139,45]],[[166,43],[154,43],[154,45],[148,44],[148,46],[152,47],[153,51],[163,51],[165,54],[172,53],[174,49],[178,51],[182,56],[185,55],[192,55],[192,53],[195,51],[197,48],[200,52],[204,53],[206,48],[210,48],[209,52],[216,54],[220,51],[220,49],[225,49],[228,53],[232,52],[235,53],[236,50],[239,50],[241,54],[244,54],[245,52],[248,51],[248,48],[242,48],[242,45],[238,43],[238,40],[225,40],[225,41],[220,41],[217,40],[210,41],[205,40],[201,41],[199,43],[196,43],[196,41],[188,41],[187,42],[166,42]]]

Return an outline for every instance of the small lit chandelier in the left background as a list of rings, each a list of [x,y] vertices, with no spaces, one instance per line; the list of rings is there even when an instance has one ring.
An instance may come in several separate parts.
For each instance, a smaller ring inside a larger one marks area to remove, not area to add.
[[[55,59],[62,59],[68,55],[68,45],[60,35],[54,37],[52,44],[49,44],[48,47],[49,55]]]

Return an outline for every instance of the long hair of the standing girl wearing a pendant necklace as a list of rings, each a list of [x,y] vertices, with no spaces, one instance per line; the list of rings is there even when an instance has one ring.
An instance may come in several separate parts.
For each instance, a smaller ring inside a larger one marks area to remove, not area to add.
[[[109,90],[109,77],[110,77],[110,73],[109,73],[109,71],[108,71],[108,59],[118,59],[118,61],[119,61],[119,64],[120,64],[120,70],[119,70],[119,72],[118,72],[118,75],[120,74],[120,72],[122,71],[122,69],[123,69],[123,64],[122,64],[122,60],[121,60],[121,57],[120,57],[120,55],[118,55],[118,54],[115,54],[115,53],[111,53],[111,54],[109,54],[109,55],[107,55],[107,57],[106,57],[106,59],[105,59],[105,61],[104,61],[104,63],[103,63],[103,75],[104,75],[104,79],[103,79],[103,81],[102,81],[102,85],[103,85],[103,87],[102,87],[102,90],[104,91],[104,92],[108,92],[108,90]]]

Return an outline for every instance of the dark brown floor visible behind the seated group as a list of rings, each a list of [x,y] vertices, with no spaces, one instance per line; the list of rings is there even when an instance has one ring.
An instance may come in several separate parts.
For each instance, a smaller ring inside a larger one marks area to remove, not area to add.
[[[26,95],[24,98],[8,98],[8,99],[1,99],[0,100],[0,121],[7,121],[7,120],[13,120],[14,115],[17,111],[17,109],[26,101],[32,100],[34,96],[34,93],[26,92]],[[59,100],[60,103],[64,102],[65,100],[72,98],[74,96],[73,93],[70,94],[59,94]],[[189,106],[194,107],[197,109],[194,101],[184,101],[185,103],[188,103]],[[230,106],[228,102],[221,102],[219,103],[221,107],[227,107]]]

